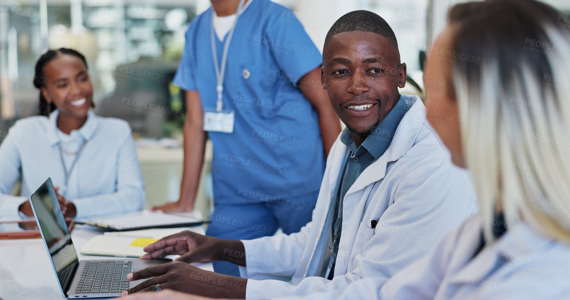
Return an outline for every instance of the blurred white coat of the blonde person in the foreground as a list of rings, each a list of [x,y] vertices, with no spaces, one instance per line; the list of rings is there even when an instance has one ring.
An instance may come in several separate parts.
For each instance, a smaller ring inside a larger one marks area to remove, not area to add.
[[[481,217],[474,215],[383,286],[370,277],[343,292],[280,299],[570,299],[569,245],[524,223],[473,257],[480,241]]]

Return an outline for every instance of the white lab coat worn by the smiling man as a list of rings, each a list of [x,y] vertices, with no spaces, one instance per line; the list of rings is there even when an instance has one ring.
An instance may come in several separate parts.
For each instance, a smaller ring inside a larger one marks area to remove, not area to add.
[[[321,232],[328,224],[326,215],[348,151],[339,138],[327,159],[312,221],[298,233],[243,241],[246,267],[240,272],[249,278],[247,299],[344,289],[370,276],[387,280],[429,253],[436,240],[477,211],[469,176],[451,164],[427,125],[424,104],[416,96],[404,98],[412,107],[388,150],[344,197],[335,278],[316,277],[315,265],[328,250]],[[373,219],[380,219],[374,229]]]

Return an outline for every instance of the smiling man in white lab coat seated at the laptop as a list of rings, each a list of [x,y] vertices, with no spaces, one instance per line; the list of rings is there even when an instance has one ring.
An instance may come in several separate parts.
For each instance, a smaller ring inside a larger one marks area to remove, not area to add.
[[[369,276],[387,280],[427,254],[477,206],[467,174],[451,164],[427,125],[420,98],[398,93],[405,79],[406,64],[384,19],[353,11],[337,20],[325,40],[321,81],[347,129],[328,155],[312,221],[298,233],[255,240],[188,231],[165,237],[144,249],[146,258],[231,261],[242,266],[242,277],[176,261],[129,274],[128,280],[154,278],[126,293],[306,295]]]

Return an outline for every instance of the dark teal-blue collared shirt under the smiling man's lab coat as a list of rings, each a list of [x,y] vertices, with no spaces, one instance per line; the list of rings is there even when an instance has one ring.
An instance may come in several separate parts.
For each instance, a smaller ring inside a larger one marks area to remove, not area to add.
[[[364,142],[356,148],[356,144],[352,139],[351,132],[348,128],[343,130],[340,135],[340,141],[348,147],[349,153],[344,161],[344,169],[339,173],[339,179],[336,183],[335,197],[332,199],[335,205],[335,213],[331,223],[332,232],[332,253],[328,266],[328,278],[332,278],[334,274],[334,266],[336,255],[339,251],[339,240],[343,223],[343,199],[349,188],[355,183],[356,178],[372,165],[378,158],[388,150],[390,143],[394,137],[394,132],[398,128],[400,121],[404,118],[404,114],[408,112],[409,105],[406,104],[404,96],[400,95],[400,99],[384,119],[372,130]],[[327,276],[327,274],[323,274]]]

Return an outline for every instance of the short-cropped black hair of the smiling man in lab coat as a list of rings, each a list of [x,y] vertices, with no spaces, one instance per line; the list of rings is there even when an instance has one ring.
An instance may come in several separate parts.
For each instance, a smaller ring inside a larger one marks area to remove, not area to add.
[[[347,31],[374,32],[375,34],[384,36],[390,46],[396,48],[396,50],[398,49],[396,35],[394,35],[394,31],[390,25],[388,25],[386,20],[382,17],[368,10],[351,11],[336,20],[336,22],[332,24],[331,29],[328,30],[327,37],[324,39],[323,48],[328,46],[333,35]]]

